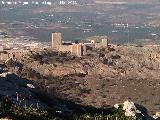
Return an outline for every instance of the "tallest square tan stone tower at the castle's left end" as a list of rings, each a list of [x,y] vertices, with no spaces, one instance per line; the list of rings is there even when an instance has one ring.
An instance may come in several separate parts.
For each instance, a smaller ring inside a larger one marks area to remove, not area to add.
[[[61,33],[52,33],[52,47],[58,47],[62,45]]]

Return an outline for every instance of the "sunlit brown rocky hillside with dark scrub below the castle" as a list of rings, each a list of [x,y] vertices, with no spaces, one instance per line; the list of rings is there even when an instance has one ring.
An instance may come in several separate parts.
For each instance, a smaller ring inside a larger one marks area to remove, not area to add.
[[[125,100],[160,111],[160,47],[111,46],[77,58],[51,50],[10,60],[9,71],[32,79],[51,96],[97,108]]]

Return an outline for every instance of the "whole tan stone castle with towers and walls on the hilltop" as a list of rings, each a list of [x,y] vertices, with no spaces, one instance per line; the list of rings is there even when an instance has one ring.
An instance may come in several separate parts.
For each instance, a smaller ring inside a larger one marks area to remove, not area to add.
[[[90,43],[72,43],[63,42],[61,33],[52,33],[52,48],[62,52],[71,52],[76,56],[83,56],[86,54],[88,48],[108,47],[108,38],[106,36],[99,36],[101,41],[96,42],[90,40]]]

